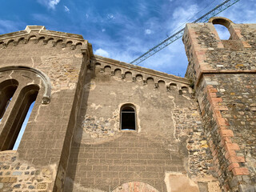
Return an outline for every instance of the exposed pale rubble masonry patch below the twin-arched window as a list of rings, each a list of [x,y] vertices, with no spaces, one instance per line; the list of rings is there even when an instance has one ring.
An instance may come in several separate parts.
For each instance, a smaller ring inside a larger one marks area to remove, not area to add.
[[[0,154],[0,190],[46,191],[53,188],[54,166],[37,167],[18,158],[16,151],[2,151]]]

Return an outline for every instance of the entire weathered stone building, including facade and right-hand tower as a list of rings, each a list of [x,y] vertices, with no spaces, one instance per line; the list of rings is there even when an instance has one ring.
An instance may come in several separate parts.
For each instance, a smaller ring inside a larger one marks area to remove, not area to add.
[[[224,42],[213,22],[186,27],[186,78],[43,26],[0,35],[0,191],[254,191],[256,27]]]

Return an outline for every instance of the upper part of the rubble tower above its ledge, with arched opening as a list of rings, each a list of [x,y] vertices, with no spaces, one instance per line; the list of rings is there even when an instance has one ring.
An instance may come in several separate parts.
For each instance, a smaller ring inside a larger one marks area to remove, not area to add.
[[[215,24],[226,27],[228,40],[219,37]],[[197,85],[205,73],[255,72],[255,30],[256,24],[235,24],[222,17],[186,24],[182,38],[189,60],[186,78]]]

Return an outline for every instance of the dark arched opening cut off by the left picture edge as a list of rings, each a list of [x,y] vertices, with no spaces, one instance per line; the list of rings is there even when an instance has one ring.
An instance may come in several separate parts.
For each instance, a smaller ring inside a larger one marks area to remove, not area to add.
[[[18,87],[18,81],[9,79],[0,83],[0,121],[5,114],[10,99],[14,96]]]

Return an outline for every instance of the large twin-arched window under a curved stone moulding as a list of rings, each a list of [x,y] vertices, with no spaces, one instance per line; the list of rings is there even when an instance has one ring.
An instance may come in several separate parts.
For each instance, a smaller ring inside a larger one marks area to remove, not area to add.
[[[1,67],[0,73],[7,79],[0,79],[0,151],[16,150],[34,103],[38,109],[50,102],[50,78],[27,66]]]

